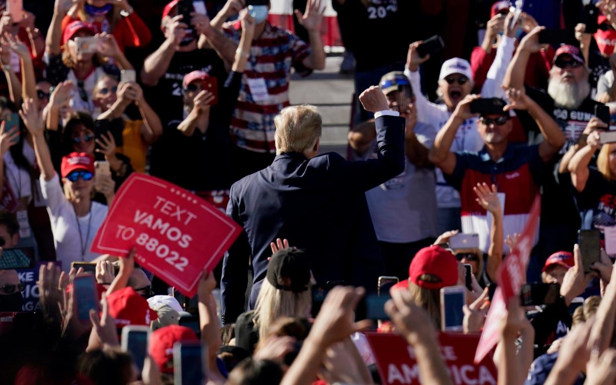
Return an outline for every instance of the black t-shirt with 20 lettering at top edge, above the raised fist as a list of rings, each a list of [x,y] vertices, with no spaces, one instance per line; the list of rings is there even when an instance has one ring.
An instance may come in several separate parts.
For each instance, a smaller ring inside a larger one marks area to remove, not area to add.
[[[408,44],[418,40],[419,7],[408,0],[333,1],[344,46],[353,53],[358,71],[405,60]],[[418,3],[418,2],[417,2]],[[367,5],[366,5],[367,4]]]

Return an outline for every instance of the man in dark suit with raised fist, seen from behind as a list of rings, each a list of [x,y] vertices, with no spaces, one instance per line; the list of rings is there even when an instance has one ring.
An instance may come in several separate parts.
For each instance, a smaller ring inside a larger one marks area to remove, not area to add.
[[[365,192],[404,170],[405,119],[389,110],[379,87],[370,87],[359,99],[375,113],[377,159],[317,156],[322,125],[317,108],[291,106],[274,121],[277,156],[272,165],[232,185],[227,216],[244,232],[222,265],[224,323],[235,322],[244,311],[249,256],[254,272],[249,307],[254,308],[272,255],[270,242],[277,238],[306,249],[317,282],[376,289],[385,270]]]

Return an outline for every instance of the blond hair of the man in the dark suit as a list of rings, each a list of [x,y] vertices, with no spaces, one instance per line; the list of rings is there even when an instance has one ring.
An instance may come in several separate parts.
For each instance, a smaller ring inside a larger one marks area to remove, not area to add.
[[[321,115],[314,105],[294,105],[283,108],[274,118],[276,153],[306,153],[321,136]]]

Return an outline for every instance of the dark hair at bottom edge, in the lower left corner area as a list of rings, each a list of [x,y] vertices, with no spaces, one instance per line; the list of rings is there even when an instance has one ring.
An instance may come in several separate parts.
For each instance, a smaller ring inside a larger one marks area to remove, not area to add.
[[[77,368],[96,385],[128,384],[132,380],[131,355],[118,348],[86,352],[79,357]]]

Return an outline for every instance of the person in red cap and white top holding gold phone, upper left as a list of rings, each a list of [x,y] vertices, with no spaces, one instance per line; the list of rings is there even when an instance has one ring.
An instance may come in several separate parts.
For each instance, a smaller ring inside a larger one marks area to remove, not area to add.
[[[96,110],[92,100],[96,81],[105,73],[120,75],[118,67],[121,70],[129,70],[132,69],[132,65],[112,34],[106,32],[95,34],[94,26],[81,20],[74,20],[62,29],[61,18],[66,13],[63,6],[62,1],[56,2],[54,16],[47,32],[45,51],[47,79],[54,86],[70,80],[75,86],[70,106],[75,111],[84,111],[92,115]],[[86,39],[88,44],[76,42],[77,39],[84,38],[89,38],[89,41]]]

